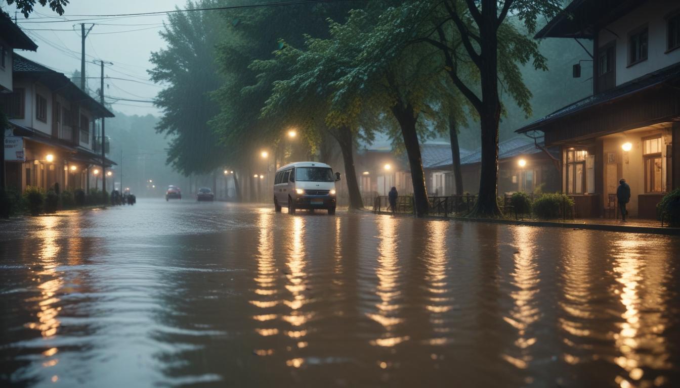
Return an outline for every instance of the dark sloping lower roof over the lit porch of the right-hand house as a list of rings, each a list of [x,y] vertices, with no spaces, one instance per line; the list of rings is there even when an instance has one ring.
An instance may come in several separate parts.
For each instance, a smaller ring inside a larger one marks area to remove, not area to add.
[[[628,94],[639,92],[643,89],[650,88],[651,86],[655,86],[661,84],[662,82],[674,79],[680,79],[680,63],[676,63],[675,65],[670,65],[664,69],[643,75],[642,77],[636,78],[635,80],[621,84],[616,88],[607,90],[606,92],[594,94],[570,105],[566,105],[566,107],[558,109],[544,118],[523,126],[522,128],[515,130],[515,132],[525,133],[530,130],[541,130],[540,127],[548,122],[558,120],[559,118],[569,116],[578,111],[595,107],[596,105],[607,103],[609,101],[624,97]]]

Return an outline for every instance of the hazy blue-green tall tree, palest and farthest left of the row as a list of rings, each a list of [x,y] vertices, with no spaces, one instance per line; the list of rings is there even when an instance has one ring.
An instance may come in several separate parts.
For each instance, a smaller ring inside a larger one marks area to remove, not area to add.
[[[186,8],[221,3],[188,1]],[[167,48],[151,54],[151,79],[165,86],[156,96],[156,106],[163,109],[156,130],[171,137],[167,162],[184,175],[208,173],[224,164],[224,147],[207,124],[219,111],[209,93],[224,83],[214,56],[222,24],[218,12],[169,14],[160,33]]]

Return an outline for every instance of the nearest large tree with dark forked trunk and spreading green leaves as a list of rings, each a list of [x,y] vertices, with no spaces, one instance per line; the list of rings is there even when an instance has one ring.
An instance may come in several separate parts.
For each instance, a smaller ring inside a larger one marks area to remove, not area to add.
[[[435,39],[424,37],[442,50],[446,58],[447,73],[458,90],[475,107],[479,114],[481,129],[481,177],[479,197],[473,215],[500,215],[496,203],[498,188],[498,122],[503,111],[498,85],[501,84],[517,105],[530,114],[531,93],[524,85],[518,64],[532,61],[536,69],[547,69],[545,57],[535,41],[524,35],[515,24],[524,22],[529,33],[536,29],[538,16],[551,18],[559,10],[559,0],[443,0],[431,1],[441,4],[432,8]],[[439,8],[443,7],[443,10]],[[441,13],[445,18],[441,18]],[[508,19],[512,15],[513,20]],[[439,22],[439,20],[442,20]],[[449,38],[446,27],[453,33]],[[479,79],[466,82],[458,72],[460,50],[450,43],[460,41],[466,59],[477,68]]]

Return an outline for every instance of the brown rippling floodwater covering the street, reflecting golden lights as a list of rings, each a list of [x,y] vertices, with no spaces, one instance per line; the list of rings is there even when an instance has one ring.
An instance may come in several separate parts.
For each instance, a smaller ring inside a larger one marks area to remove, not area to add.
[[[0,222],[0,385],[680,386],[677,237],[323,213]]]

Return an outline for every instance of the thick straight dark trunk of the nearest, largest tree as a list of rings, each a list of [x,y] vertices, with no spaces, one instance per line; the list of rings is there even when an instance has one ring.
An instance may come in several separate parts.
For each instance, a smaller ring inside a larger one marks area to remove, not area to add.
[[[501,215],[496,194],[498,193],[498,121],[500,101],[498,99],[498,35],[496,0],[484,0],[481,8],[481,175],[479,198],[471,211],[475,217],[497,217]]]

